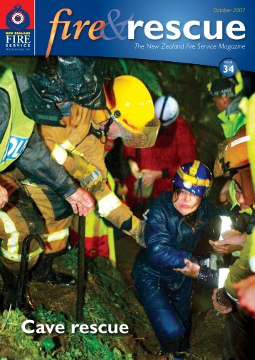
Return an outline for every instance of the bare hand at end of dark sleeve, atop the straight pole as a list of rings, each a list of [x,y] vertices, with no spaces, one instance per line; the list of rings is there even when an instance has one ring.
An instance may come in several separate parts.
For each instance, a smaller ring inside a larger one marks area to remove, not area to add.
[[[74,213],[80,216],[86,216],[93,211],[94,200],[88,191],[79,188],[74,194],[68,196],[66,201],[71,204]]]

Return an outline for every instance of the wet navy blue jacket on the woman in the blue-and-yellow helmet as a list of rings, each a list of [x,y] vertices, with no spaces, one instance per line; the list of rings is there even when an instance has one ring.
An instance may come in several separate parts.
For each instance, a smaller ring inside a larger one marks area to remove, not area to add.
[[[184,258],[194,261],[193,251],[202,237],[204,227],[226,211],[202,200],[196,211],[196,217],[189,224],[189,216],[182,216],[172,204],[172,193],[164,191],[152,202],[145,213],[145,243],[147,248],[137,255],[135,264],[142,263],[155,275],[170,276],[177,281],[184,275],[174,268],[184,268]]]

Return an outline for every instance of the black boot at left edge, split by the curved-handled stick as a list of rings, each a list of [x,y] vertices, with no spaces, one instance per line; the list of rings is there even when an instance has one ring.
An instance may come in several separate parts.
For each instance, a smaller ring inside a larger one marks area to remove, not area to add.
[[[2,287],[1,292],[1,310],[16,308],[17,301],[17,289],[19,282],[19,275],[16,272],[11,271],[11,269],[6,268],[3,264],[0,263],[0,273],[4,282],[4,286]],[[20,309],[24,310],[24,312],[32,312],[36,309],[33,300],[27,289],[27,276],[24,280],[24,292],[22,295],[21,306]]]

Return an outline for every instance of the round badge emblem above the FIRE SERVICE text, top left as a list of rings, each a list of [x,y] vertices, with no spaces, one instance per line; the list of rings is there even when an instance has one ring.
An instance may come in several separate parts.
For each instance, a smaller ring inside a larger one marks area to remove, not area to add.
[[[24,31],[28,28],[29,24],[29,15],[19,4],[15,5],[14,9],[6,15],[6,26],[13,31]]]

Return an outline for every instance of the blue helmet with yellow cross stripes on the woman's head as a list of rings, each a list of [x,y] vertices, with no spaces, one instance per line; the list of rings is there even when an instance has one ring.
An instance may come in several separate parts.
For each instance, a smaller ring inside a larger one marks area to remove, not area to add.
[[[172,182],[175,186],[194,195],[205,197],[209,194],[212,186],[212,173],[207,166],[194,160],[194,162],[180,166]]]

